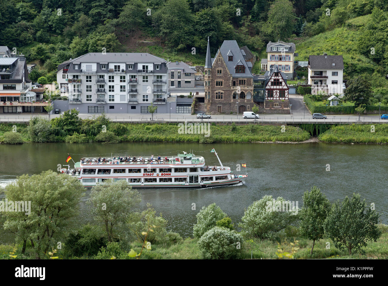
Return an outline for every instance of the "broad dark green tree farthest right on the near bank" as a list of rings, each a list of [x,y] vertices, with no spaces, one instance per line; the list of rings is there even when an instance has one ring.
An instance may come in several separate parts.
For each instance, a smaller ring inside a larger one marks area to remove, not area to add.
[[[345,197],[341,203],[339,200],[331,207],[324,222],[325,233],[333,240],[339,249],[348,249],[364,253],[362,247],[367,246],[367,241],[376,240],[381,236],[377,228],[379,214],[367,207],[364,200],[360,200],[360,194],[353,193],[352,198]]]

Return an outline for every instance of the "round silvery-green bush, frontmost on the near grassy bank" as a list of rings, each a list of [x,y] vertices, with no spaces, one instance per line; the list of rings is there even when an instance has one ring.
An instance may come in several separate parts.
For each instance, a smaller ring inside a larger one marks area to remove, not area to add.
[[[239,256],[242,235],[234,230],[215,226],[198,240],[198,246],[206,259],[232,259]]]

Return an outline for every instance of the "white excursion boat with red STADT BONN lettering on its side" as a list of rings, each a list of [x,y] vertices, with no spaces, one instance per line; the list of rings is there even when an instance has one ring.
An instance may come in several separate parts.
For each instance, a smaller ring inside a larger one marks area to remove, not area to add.
[[[247,175],[232,174],[224,167],[214,149],[219,166],[206,166],[202,156],[178,154],[158,157],[81,158],[74,168],[61,173],[76,176],[83,186],[91,188],[107,179],[125,180],[134,188],[210,187],[238,184]],[[69,166],[69,165],[68,165]]]

